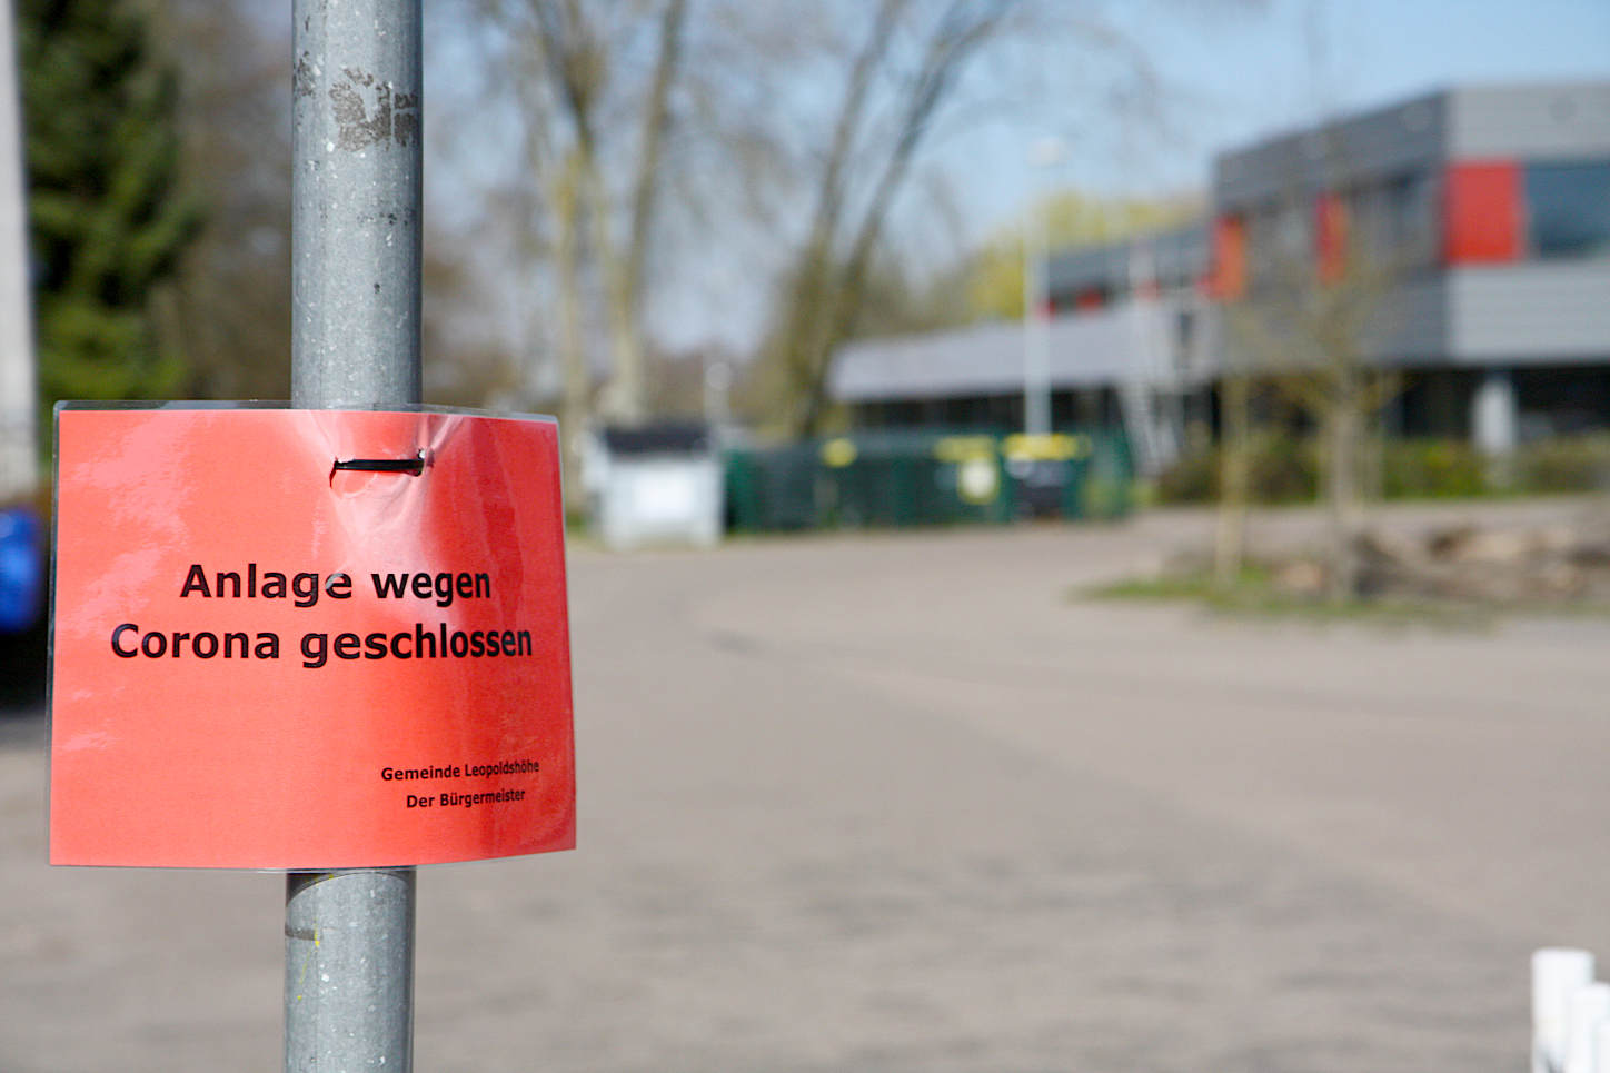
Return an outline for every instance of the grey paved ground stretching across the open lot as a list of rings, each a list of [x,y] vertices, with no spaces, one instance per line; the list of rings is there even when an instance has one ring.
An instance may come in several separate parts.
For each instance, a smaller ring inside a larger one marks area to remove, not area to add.
[[[1064,596],[1204,530],[576,551],[581,849],[422,873],[417,1067],[1523,1068],[1530,951],[1610,955],[1610,624]],[[40,741],[0,1071],[277,1068],[282,881],[47,868]]]

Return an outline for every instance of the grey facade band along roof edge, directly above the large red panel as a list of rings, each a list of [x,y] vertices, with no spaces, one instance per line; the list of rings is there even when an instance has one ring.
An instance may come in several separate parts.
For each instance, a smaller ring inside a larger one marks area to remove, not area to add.
[[[1470,87],[1449,93],[1454,160],[1604,160],[1610,84]]]

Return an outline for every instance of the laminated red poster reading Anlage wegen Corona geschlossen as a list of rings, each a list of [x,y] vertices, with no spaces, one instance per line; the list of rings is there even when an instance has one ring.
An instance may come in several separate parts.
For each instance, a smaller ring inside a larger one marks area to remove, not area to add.
[[[56,416],[50,860],[575,846],[557,425]]]

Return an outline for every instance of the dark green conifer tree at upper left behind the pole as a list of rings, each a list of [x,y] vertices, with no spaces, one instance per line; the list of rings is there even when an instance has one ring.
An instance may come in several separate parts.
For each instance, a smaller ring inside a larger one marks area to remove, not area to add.
[[[200,226],[175,74],[122,0],[21,0],[18,45],[42,400],[161,398],[184,366],[150,298]]]

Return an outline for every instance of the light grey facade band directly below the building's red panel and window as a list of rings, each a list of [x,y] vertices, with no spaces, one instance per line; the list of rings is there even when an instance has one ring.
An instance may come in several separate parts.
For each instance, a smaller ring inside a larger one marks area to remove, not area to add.
[[[1610,261],[1459,269],[1447,292],[1455,364],[1610,361]]]

